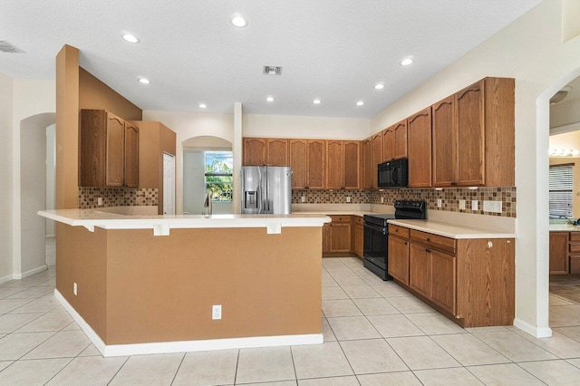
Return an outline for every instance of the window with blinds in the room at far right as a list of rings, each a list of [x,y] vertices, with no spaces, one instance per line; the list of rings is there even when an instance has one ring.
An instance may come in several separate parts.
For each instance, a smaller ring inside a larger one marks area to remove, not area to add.
[[[572,217],[574,164],[550,166],[550,218]]]

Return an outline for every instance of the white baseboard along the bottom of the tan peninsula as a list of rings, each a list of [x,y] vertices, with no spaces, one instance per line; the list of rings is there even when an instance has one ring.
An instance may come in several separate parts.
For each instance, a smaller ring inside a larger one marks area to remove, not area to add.
[[[96,346],[104,357],[126,356],[152,353],[169,352],[206,352],[213,350],[246,349],[253,347],[275,347],[302,344],[321,344],[324,342],[322,333],[309,333],[301,335],[277,335],[277,336],[254,336],[248,338],[208,339],[202,341],[179,341],[160,343],[133,343],[106,345],[101,337],[92,330],[91,326],[82,319],[73,306],[69,304],[63,295],[54,290],[54,296],[63,304],[66,311],[71,314],[82,331]]]

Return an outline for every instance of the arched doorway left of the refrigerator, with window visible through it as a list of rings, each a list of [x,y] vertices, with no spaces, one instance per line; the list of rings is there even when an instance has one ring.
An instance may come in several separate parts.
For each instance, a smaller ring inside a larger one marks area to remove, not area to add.
[[[206,215],[206,192],[209,179],[227,179],[227,176],[209,176],[208,162],[226,165],[227,159],[232,158],[232,144],[228,140],[211,136],[198,136],[182,142],[183,151],[183,212],[191,215]],[[233,168],[233,167],[232,167]],[[231,172],[231,169],[230,169]],[[218,173],[219,174],[219,173]],[[211,184],[218,186],[219,184]],[[231,186],[231,184],[230,184]],[[233,206],[231,195],[229,200],[226,194],[216,193],[213,198],[213,214],[231,214]]]

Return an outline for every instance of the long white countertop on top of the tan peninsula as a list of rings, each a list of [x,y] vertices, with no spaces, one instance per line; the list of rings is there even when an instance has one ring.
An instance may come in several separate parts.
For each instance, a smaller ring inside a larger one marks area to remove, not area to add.
[[[73,227],[104,229],[153,229],[155,236],[169,235],[171,228],[265,227],[268,234],[283,227],[322,227],[330,217],[320,214],[292,215],[121,215],[98,209],[41,210],[38,215]]]

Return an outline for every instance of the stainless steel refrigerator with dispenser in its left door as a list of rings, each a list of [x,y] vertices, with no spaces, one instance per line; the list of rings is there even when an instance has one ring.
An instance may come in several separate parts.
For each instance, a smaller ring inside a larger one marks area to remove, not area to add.
[[[242,213],[292,213],[292,169],[289,166],[242,167]]]

